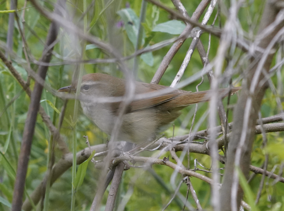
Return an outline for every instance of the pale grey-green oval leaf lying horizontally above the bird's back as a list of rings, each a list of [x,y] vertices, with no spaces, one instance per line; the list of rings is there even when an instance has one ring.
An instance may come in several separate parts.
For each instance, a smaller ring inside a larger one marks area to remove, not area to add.
[[[185,24],[179,20],[170,20],[156,25],[152,31],[166,32],[171,35],[179,35],[185,29]]]

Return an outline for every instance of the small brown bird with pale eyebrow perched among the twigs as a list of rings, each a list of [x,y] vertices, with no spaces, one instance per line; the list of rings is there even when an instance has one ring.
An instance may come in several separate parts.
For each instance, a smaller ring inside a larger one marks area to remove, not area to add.
[[[83,113],[108,135],[111,135],[118,118],[127,84],[124,79],[103,73],[82,77],[79,99]],[[239,89],[241,87],[217,89],[217,96],[224,98]],[[76,92],[76,86],[62,87],[58,91]],[[181,115],[181,109],[208,101],[212,96],[212,90],[191,92],[137,81],[133,92],[134,97],[125,109],[117,138],[134,144],[154,141]],[[107,100],[109,97],[118,99]]]

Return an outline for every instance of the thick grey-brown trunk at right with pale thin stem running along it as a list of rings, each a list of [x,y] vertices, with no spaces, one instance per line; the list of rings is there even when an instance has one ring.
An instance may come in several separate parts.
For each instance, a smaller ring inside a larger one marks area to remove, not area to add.
[[[267,1],[262,14],[262,20],[260,21],[258,34],[268,31],[266,27],[273,23],[277,14],[281,14],[281,10],[279,12],[274,7],[272,1]],[[267,52],[265,51],[260,55],[260,61],[245,73],[244,81],[246,82],[246,86],[241,91],[237,106],[234,109],[235,125],[228,149],[229,156],[227,157],[227,167],[221,191],[221,210],[224,211],[229,211],[231,208],[237,210],[243,196],[243,191],[239,188],[238,172],[236,169],[240,168],[245,176],[249,173],[252,144],[255,136],[253,129],[264,92],[267,88],[266,86],[257,86],[258,82],[264,78],[263,74],[260,75],[260,71],[268,71],[270,68],[274,53],[268,56],[268,51],[270,52],[271,45],[276,41],[274,40],[275,36],[280,35],[279,32],[282,30],[283,24],[284,22],[282,21],[276,28],[272,31],[270,30],[270,33],[265,38],[260,40],[258,46],[268,48]],[[219,62],[221,63],[221,61]]]

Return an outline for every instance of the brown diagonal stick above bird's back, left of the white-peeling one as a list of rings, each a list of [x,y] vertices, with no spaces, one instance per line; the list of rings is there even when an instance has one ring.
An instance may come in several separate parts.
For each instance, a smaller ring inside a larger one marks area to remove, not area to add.
[[[156,1],[151,0],[150,2],[161,7],[160,3],[157,3]],[[195,12],[193,13],[191,20],[197,21],[200,18],[202,12],[205,10],[207,5],[209,4],[209,2],[210,1],[208,1],[208,0],[202,0],[201,3],[196,8]],[[180,16],[183,17],[183,15],[180,15]],[[199,25],[201,25],[201,24],[199,24]],[[191,33],[191,30],[193,29],[193,27],[194,27],[193,24],[188,24],[185,27],[185,29],[183,30],[183,32],[181,33],[181,35],[179,35],[179,39],[172,45],[172,47],[170,48],[170,50],[168,51],[166,56],[164,56],[160,66],[158,67],[158,69],[157,69],[157,71],[156,71],[156,73],[155,73],[155,75],[154,75],[154,77],[151,81],[152,84],[158,84],[159,83],[159,81],[162,78],[162,75],[165,73],[166,69],[168,68],[168,65],[172,61],[172,58],[174,57],[176,52],[179,50],[181,45],[185,42],[185,40],[187,39],[187,37]]]

